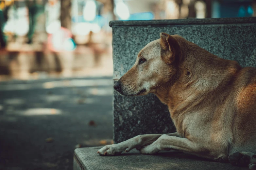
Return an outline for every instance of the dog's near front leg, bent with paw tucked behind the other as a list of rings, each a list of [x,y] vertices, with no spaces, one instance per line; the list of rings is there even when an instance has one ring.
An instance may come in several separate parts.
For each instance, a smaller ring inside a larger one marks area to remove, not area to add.
[[[155,154],[160,150],[171,150],[190,153],[203,158],[214,159],[207,154],[207,149],[202,148],[199,143],[188,140],[187,138],[181,138],[176,136],[162,135],[152,144],[145,146],[140,151],[143,154]],[[209,153],[209,152],[208,152]]]

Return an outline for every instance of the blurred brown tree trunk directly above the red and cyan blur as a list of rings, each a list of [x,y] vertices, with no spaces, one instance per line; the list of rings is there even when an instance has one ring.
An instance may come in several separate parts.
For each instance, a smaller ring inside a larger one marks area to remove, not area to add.
[[[71,0],[60,0],[60,22],[71,31]]]

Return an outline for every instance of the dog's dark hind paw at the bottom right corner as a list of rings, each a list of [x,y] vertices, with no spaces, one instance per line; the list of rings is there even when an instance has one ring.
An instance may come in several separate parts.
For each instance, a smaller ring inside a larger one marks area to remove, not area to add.
[[[234,166],[249,166],[256,170],[256,154],[252,152],[236,152],[229,156],[229,162]]]

